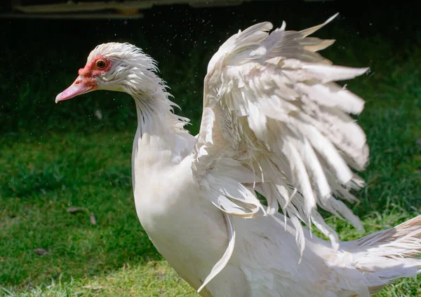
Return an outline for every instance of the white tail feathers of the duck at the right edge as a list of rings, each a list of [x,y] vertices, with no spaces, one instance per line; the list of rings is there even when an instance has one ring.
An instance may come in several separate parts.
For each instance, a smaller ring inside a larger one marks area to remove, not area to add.
[[[421,215],[348,244],[353,265],[366,277],[370,293],[394,279],[421,273]]]

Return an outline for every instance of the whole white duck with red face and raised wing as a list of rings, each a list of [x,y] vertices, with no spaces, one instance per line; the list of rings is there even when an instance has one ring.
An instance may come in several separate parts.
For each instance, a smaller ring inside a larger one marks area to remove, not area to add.
[[[202,296],[370,296],[420,273],[421,216],[339,242],[317,212],[363,228],[334,196],[353,202],[350,189],[363,186],[349,167],[366,167],[366,136],[347,113],[360,113],[364,102],[334,81],[367,69],[332,65],[316,52],[333,41],[307,37],[333,18],[300,32],[283,23],[270,34],[272,24],[262,22],[229,38],[208,65],[196,137],[173,113],[154,60],[128,43],[97,46],[55,99],[92,90],[135,99],[140,223]]]

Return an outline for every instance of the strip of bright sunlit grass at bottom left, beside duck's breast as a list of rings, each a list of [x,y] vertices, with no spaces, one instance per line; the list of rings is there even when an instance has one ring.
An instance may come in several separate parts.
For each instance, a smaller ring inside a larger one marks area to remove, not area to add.
[[[61,277],[23,291],[0,288],[0,296],[199,296],[178,277],[166,261],[149,261],[74,281]]]

